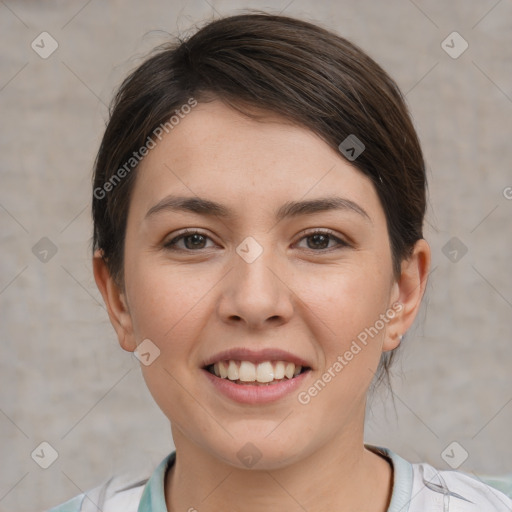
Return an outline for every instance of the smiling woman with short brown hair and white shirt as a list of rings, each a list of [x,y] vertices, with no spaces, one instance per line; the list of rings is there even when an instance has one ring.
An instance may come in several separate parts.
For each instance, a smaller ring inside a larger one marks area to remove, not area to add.
[[[143,63],[96,160],[93,265],[176,451],[54,510],[510,510],[364,444],[425,290],[425,196],[400,91],[333,33],[233,16]]]

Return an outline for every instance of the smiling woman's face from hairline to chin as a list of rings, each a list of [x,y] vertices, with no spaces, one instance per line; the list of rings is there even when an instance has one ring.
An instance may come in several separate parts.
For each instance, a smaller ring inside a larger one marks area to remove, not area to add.
[[[240,468],[246,452],[270,469],[362,438],[409,321],[371,181],[309,130],[219,101],[141,163],[124,276],[119,339],[150,340],[142,371],[177,446]]]

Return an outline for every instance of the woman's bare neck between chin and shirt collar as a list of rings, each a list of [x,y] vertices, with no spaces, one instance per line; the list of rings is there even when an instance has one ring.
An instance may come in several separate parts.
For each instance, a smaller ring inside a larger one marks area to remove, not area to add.
[[[343,505],[385,512],[391,466],[364,447],[362,435],[356,440],[352,434],[338,436],[297,463],[267,471],[235,468],[173,430],[177,457],[166,476],[168,510],[320,512]]]

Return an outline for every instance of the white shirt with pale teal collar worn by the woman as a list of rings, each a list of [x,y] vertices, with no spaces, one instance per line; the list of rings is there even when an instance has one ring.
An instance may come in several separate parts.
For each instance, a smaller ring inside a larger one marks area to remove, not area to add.
[[[393,466],[387,512],[512,512],[510,497],[474,477],[439,471],[426,463],[411,464],[387,448],[366,447],[384,455]],[[165,474],[175,457],[176,452],[168,455],[149,479],[115,477],[48,512],[167,512]]]

